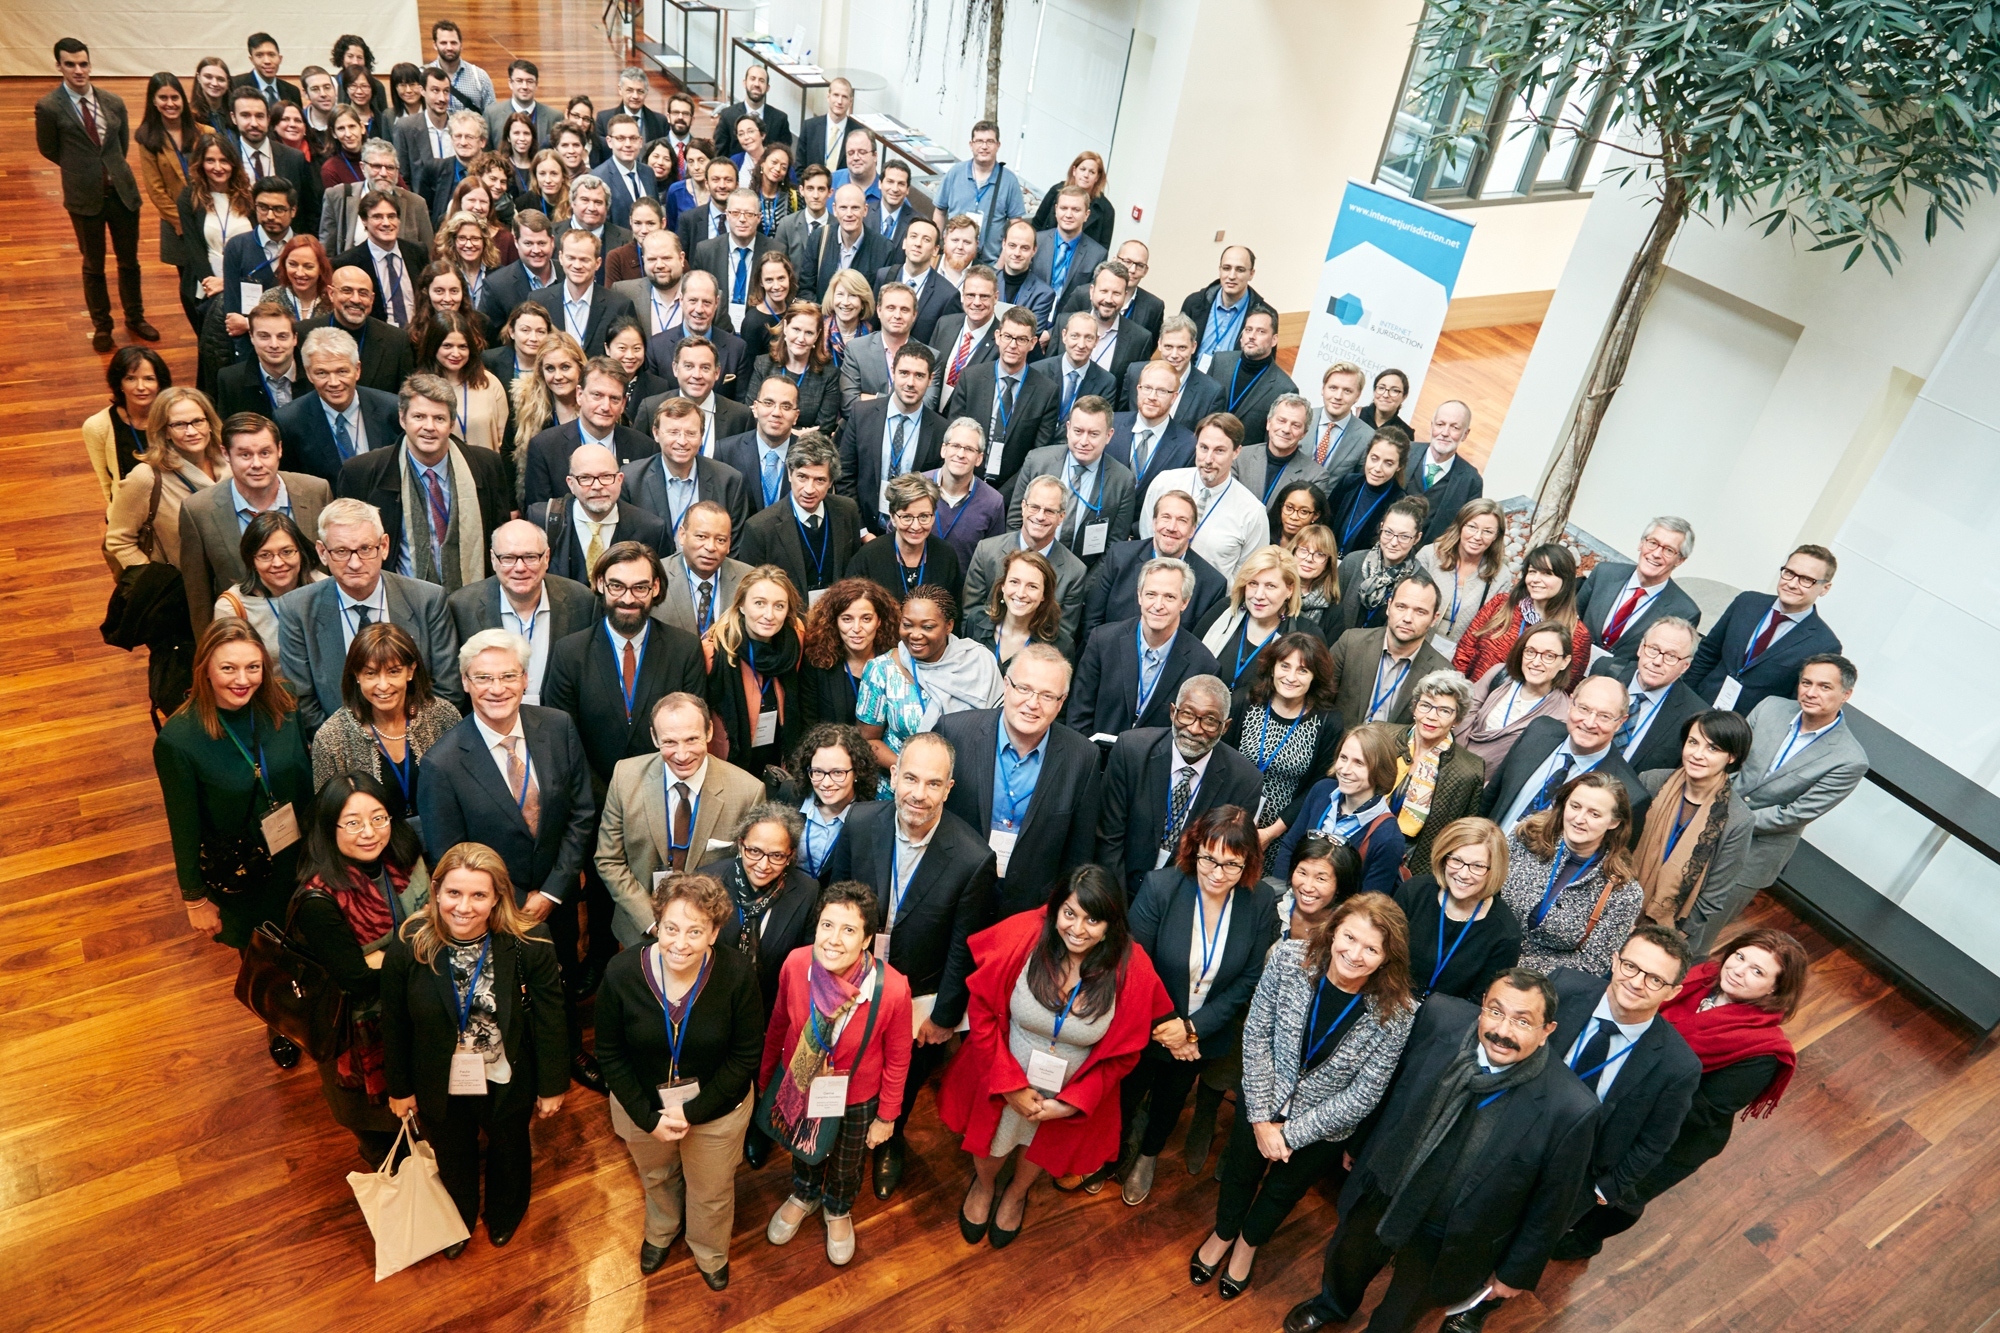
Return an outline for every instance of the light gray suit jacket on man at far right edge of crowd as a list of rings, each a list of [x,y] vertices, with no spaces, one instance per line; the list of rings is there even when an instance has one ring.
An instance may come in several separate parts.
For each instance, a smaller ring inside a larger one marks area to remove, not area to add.
[[[1770,773],[1796,717],[1796,699],[1772,697],[1750,709],[1750,759],[1736,775],[1736,793],[1756,821],[1740,885],[1746,899],[1778,883],[1806,825],[1846,801],[1868,777],[1868,751],[1846,723],[1806,749],[1794,747],[1784,767]]]

